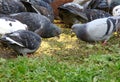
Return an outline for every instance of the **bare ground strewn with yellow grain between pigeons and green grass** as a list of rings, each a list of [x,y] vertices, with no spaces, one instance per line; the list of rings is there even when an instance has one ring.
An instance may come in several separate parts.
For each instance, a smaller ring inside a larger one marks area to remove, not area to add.
[[[64,24],[58,26],[62,29],[60,37],[42,39],[41,46],[34,56],[49,55],[61,61],[77,63],[92,54],[120,54],[119,34],[111,37],[106,45],[102,45],[102,42],[86,43],[78,40]],[[14,58],[16,55],[12,49],[0,45],[0,57]]]

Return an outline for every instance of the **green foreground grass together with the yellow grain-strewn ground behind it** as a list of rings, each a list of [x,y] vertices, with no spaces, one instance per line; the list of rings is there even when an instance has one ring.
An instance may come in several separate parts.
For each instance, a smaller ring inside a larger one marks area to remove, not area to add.
[[[0,59],[0,82],[120,82],[120,37],[86,43],[63,28],[31,58]]]

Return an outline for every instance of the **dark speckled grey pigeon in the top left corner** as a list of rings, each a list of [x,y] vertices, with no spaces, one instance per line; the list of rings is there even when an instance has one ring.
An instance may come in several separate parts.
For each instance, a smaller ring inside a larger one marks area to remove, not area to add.
[[[25,11],[25,6],[19,0],[0,0],[0,13],[2,14],[13,14]]]

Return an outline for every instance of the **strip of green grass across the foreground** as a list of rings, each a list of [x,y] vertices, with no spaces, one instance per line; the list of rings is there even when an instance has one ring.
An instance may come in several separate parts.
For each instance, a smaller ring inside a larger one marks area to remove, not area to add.
[[[120,82],[119,55],[90,55],[82,64],[53,56],[0,60],[0,82]]]

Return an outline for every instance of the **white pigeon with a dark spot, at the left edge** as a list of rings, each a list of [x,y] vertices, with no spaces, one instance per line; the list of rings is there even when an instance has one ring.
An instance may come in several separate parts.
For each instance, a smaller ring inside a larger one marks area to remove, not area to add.
[[[12,19],[9,17],[1,17],[0,18],[0,34],[4,35],[6,33],[11,33],[17,30],[27,30],[27,25],[21,23],[16,19]]]

